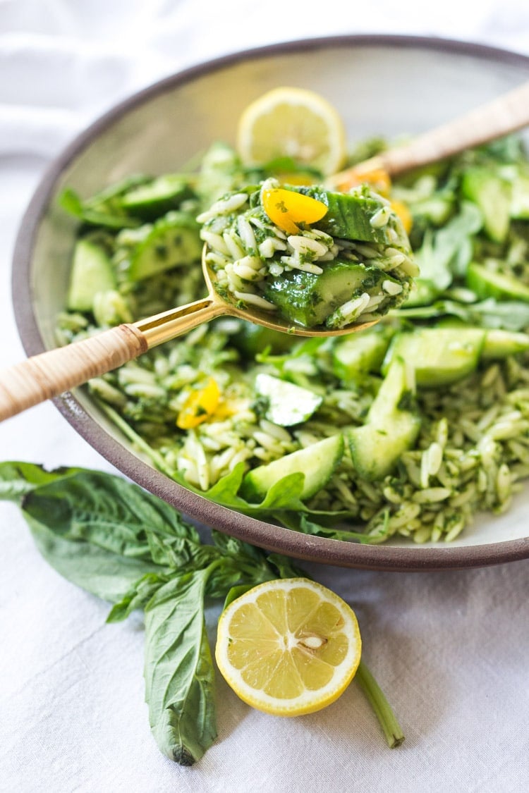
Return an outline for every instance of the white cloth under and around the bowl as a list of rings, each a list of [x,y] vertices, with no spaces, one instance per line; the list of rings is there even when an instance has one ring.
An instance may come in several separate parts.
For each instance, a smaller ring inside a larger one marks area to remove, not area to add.
[[[529,6],[0,0],[0,367],[23,357],[10,301],[17,228],[71,136],[182,67],[332,33],[433,34],[529,55]],[[52,404],[0,425],[0,459],[112,470]],[[105,625],[107,605],[42,561],[10,504],[0,503],[0,537],[1,791],[527,790],[527,562],[415,574],[307,565],[355,607],[404,745],[386,747],[355,684],[292,721],[251,711],[219,679],[217,742],[181,768],[148,729],[140,616]]]

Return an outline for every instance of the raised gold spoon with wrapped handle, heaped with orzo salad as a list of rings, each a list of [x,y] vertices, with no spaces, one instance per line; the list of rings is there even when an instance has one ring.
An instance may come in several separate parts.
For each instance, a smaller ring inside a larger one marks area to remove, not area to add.
[[[227,193],[197,221],[207,297],[10,367],[0,420],[223,315],[292,336],[361,331],[404,301],[418,272],[401,219],[368,186],[346,195],[269,179]],[[87,255],[72,270],[78,297],[94,290],[98,264]]]

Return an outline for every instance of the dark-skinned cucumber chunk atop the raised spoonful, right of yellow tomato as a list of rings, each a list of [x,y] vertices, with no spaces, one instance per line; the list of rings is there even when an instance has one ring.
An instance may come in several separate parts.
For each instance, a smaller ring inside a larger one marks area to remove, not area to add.
[[[289,187],[299,193],[309,195],[328,207],[321,220],[313,224],[322,232],[341,239],[357,239],[368,243],[381,243],[408,248],[408,236],[401,220],[389,211],[389,220],[379,226],[371,223],[374,216],[384,207],[389,210],[387,201],[366,188],[355,193],[333,193],[320,186]],[[395,233],[397,232],[397,239]]]

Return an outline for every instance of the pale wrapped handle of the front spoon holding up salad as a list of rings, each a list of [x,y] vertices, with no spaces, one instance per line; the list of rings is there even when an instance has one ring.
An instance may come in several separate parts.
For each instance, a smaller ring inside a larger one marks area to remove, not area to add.
[[[0,421],[117,369],[147,348],[141,331],[123,324],[27,358],[0,373]]]

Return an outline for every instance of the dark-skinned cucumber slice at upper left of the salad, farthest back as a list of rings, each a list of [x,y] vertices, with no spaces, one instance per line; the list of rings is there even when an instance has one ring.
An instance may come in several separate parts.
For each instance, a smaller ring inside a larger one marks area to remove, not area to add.
[[[192,194],[189,184],[181,174],[165,174],[148,184],[128,190],[121,197],[121,207],[125,213],[151,220],[171,209],[177,209]]]

